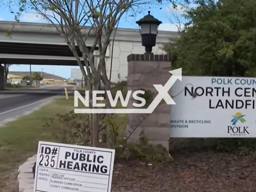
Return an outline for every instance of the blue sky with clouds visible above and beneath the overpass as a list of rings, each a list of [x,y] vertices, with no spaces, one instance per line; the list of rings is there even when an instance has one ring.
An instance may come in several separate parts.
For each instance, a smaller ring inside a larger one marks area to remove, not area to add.
[[[148,11],[150,14],[162,21],[162,24],[159,26],[159,30],[164,31],[177,31],[177,20],[175,15],[182,14],[182,6],[178,4],[177,8],[174,10],[171,4],[159,4],[151,6],[143,10],[141,14],[137,14],[135,17],[123,16],[119,22],[119,28],[136,28],[138,29],[138,24],[135,22],[140,18],[143,18]],[[0,7],[0,20],[3,21],[14,21],[14,14],[10,13],[10,10],[6,6]],[[42,18],[39,14],[25,12],[20,17],[20,22],[34,22],[34,23],[47,23],[46,20]],[[62,76],[64,78],[70,78],[70,69],[78,68],[78,66],[42,66],[42,65],[32,65],[32,71],[42,71],[50,74]],[[10,66],[10,71],[29,71],[29,65],[12,65]]]

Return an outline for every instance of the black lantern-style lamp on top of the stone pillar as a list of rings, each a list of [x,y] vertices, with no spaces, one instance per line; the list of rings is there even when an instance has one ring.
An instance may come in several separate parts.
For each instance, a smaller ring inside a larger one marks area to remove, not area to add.
[[[150,15],[149,11],[148,15],[136,21],[136,23],[140,26],[142,46],[145,47],[147,53],[151,53],[152,47],[156,46],[156,35],[158,33],[158,26],[162,22]]]

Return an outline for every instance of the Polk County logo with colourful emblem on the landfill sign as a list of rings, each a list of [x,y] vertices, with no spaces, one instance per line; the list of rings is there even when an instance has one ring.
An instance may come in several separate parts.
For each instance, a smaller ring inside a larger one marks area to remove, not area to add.
[[[231,136],[245,136],[246,134],[249,134],[247,128],[248,126],[236,126],[236,124],[239,122],[244,123],[246,120],[244,119],[244,116],[242,113],[238,112],[236,113],[231,120],[232,126],[228,126],[228,133]]]

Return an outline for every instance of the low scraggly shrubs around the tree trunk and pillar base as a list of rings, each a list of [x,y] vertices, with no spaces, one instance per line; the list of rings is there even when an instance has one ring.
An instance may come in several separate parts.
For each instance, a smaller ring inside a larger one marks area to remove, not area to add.
[[[162,146],[148,144],[141,134],[140,142],[127,142],[126,130],[117,123],[116,115],[98,114],[101,147],[116,150],[117,159],[144,160],[146,162],[165,163],[171,160],[168,151]],[[54,118],[45,119],[44,126],[50,128],[52,136],[62,143],[90,146],[91,131],[90,114],[58,114]],[[106,146],[107,144],[107,146]]]

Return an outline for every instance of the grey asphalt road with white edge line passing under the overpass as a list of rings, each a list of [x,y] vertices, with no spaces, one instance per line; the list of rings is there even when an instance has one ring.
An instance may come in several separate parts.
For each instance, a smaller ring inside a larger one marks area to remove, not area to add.
[[[74,86],[54,85],[28,90],[0,91],[0,126],[28,114],[56,96],[65,96],[64,88],[71,93]]]

